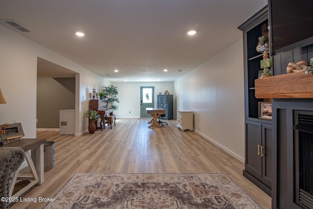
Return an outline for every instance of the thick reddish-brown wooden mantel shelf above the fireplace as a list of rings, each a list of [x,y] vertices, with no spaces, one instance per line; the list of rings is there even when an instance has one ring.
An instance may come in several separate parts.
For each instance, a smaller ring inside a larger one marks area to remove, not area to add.
[[[256,98],[313,98],[313,75],[293,72],[256,79]]]

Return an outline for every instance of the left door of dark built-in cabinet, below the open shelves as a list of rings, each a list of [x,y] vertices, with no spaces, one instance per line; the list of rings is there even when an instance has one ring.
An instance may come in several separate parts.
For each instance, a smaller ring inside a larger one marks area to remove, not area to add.
[[[260,123],[246,121],[246,172],[255,178],[262,178],[262,126]]]

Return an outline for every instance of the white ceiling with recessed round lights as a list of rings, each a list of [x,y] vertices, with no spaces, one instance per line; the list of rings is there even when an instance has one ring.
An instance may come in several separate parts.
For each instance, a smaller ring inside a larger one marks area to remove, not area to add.
[[[237,27],[266,4],[267,0],[0,0],[0,20],[15,20],[31,32],[0,23],[110,81],[174,81],[240,40]],[[190,29],[197,34],[186,35]],[[86,35],[77,37],[76,31]],[[38,73],[62,76],[65,69],[51,65],[39,59]]]

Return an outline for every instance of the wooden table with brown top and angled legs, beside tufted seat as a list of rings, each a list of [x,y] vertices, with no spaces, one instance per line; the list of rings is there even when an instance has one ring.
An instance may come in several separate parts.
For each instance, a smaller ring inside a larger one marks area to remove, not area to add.
[[[21,196],[30,187],[36,185],[41,185],[44,183],[44,143],[46,139],[22,139],[11,141],[10,143],[4,144],[3,147],[20,147],[25,152],[25,159],[32,173],[32,177],[18,176],[20,168],[17,169],[12,176],[12,180],[9,188],[9,197],[12,197],[13,189],[16,180],[33,180],[27,186],[22,188],[13,197]],[[29,150],[35,149],[36,153],[36,167],[30,157]]]

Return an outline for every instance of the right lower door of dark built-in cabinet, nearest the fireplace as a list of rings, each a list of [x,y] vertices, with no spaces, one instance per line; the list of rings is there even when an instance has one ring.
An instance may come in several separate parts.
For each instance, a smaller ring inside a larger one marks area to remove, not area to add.
[[[264,184],[271,188],[272,182],[272,126],[262,124],[262,178]]]

